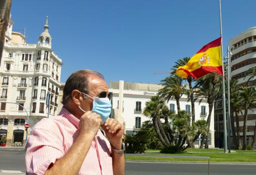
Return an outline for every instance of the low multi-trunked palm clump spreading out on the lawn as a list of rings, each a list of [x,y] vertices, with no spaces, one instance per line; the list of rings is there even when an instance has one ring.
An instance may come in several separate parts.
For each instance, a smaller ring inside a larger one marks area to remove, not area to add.
[[[189,147],[189,144],[184,146],[187,139],[195,141],[201,133],[206,134],[205,130],[208,129],[207,123],[201,120],[191,126],[191,116],[184,110],[179,110],[178,114],[170,112],[160,96],[153,96],[151,101],[146,102],[143,114],[152,119],[156,135],[165,150],[175,148],[177,152],[182,152]],[[170,127],[169,119],[173,121],[173,128]]]

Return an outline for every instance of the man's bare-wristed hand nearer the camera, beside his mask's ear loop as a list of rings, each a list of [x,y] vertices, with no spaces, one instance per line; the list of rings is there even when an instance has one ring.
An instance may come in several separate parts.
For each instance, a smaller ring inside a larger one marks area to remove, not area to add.
[[[80,134],[91,134],[91,136],[94,137],[97,134],[101,123],[102,119],[99,114],[91,111],[85,112],[81,116],[79,122]]]

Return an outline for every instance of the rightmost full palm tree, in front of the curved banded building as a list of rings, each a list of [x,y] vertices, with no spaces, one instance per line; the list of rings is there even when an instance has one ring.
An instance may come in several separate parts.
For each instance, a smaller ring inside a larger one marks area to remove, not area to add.
[[[248,118],[248,110],[252,110],[253,106],[256,105],[256,89],[255,87],[241,87],[239,90],[239,95],[241,96],[242,106],[244,108],[243,114],[243,144],[242,149],[246,149],[246,129],[247,129],[247,118]],[[255,144],[255,140],[254,143]]]

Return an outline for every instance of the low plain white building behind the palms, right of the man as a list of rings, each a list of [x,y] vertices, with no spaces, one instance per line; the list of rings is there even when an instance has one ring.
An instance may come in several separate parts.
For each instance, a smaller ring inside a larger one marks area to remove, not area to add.
[[[135,134],[139,131],[142,123],[150,118],[142,114],[143,109],[146,106],[146,102],[150,101],[150,98],[157,94],[158,90],[162,86],[158,84],[147,83],[132,83],[132,82],[115,82],[110,81],[109,92],[113,93],[113,109],[118,109],[119,116],[121,115],[124,121],[126,134]],[[120,104],[120,100],[122,104]],[[171,99],[167,106],[170,110],[177,113],[176,100]],[[187,96],[183,95],[180,99],[181,110],[185,110],[188,113],[191,112],[191,102],[188,101]],[[122,110],[119,110],[122,109]],[[207,119],[207,111],[209,110],[208,103],[203,100],[195,102],[195,120]],[[214,109],[211,114],[210,134],[209,134],[209,147],[214,147]],[[198,146],[198,141],[195,142]],[[197,147],[196,146],[196,147]]]

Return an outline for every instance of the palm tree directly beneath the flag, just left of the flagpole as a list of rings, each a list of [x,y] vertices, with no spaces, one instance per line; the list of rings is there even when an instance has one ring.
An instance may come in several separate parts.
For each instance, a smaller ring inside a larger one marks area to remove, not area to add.
[[[206,121],[208,129],[210,128],[211,124],[211,113],[214,102],[221,87],[221,78],[222,76],[220,74],[210,73],[197,79],[197,84],[195,85],[195,87],[197,87],[195,99],[200,99],[199,102],[201,102],[203,99],[206,99],[209,105],[208,117]],[[205,140],[208,140],[208,136],[203,135],[200,148],[203,148],[204,143],[205,147],[208,147],[208,141]]]

